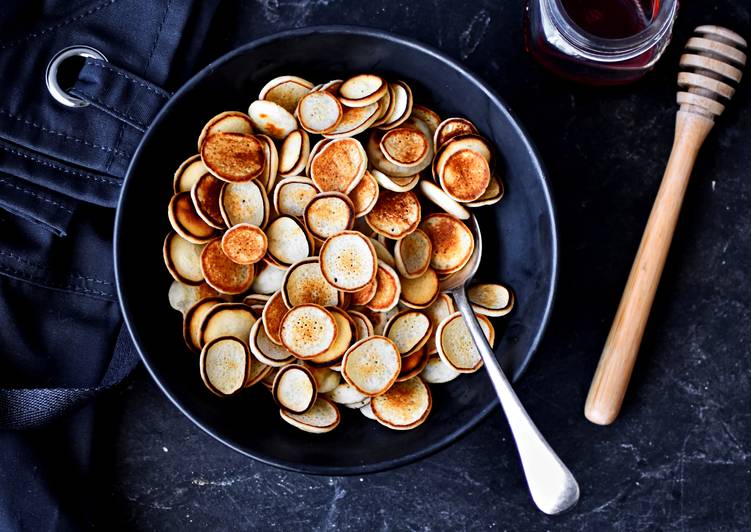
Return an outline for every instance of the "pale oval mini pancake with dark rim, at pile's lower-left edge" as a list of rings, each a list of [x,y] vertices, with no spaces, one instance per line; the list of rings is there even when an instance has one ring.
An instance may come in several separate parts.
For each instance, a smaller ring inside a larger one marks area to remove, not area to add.
[[[242,390],[250,372],[248,346],[237,338],[216,338],[201,351],[201,378],[219,397]]]

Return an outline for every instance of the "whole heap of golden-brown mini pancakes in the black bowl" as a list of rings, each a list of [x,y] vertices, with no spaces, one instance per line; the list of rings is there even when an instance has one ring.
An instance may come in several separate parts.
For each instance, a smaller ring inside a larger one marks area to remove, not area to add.
[[[170,304],[207,389],[262,383],[308,432],[334,429],[337,405],[420,425],[429,384],[482,366],[440,281],[474,250],[468,209],[503,196],[495,158],[473,123],[373,74],[275,78],[247,114],[209,120],[175,173],[164,241]],[[488,316],[514,295],[468,295],[492,345]]]

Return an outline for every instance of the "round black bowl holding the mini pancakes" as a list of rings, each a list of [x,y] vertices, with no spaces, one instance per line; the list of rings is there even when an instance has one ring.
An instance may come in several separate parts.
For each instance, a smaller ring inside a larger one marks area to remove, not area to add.
[[[420,427],[393,431],[342,408],[340,426],[322,435],[287,425],[263,386],[219,399],[201,382],[198,359],[183,345],[180,314],[162,262],[170,230],[167,203],[178,164],[196,151],[203,124],[230,109],[246,111],[274,76],[314,83],[354,73],[403,79],[443,117],[465,116],[500,153],[506,196],[477,211],[485,256],[479,278],[507,283],[516,308],[497,321],[496,353],[517,379],[545,329],[556,284],[556,224],[550,192],[532,144],[500,99],[461,65],[403,37],[353,27],[317,27],[272,35],[212,63],[164,107],[130,166],[115,227],[115,266],[123,314],[144,364],[172,402],[203,430],[262,462],[307,473],[379,471],[417,460],[455,441],[497,401],[484,371],[432,386],[433,410]]]

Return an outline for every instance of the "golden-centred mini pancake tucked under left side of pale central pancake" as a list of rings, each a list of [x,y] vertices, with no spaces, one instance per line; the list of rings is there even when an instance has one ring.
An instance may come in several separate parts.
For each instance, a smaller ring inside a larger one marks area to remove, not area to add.
[[[318,257],[303,259],[289,267],[282,281],[282,297],[289,308],[304,303],[335,307],[342,302],[339,291],[323,276]]]

